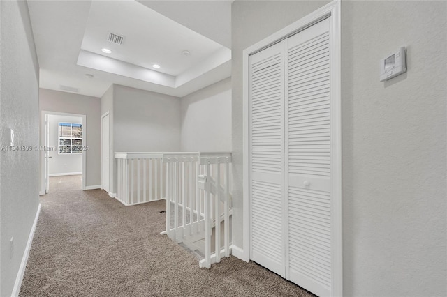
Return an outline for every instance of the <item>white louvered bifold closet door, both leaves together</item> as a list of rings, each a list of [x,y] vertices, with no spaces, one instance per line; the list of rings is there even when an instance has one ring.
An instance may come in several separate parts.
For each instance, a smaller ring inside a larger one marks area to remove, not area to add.
[[[250,259],[330,296],[331,65],[325,19],[250,56]]]

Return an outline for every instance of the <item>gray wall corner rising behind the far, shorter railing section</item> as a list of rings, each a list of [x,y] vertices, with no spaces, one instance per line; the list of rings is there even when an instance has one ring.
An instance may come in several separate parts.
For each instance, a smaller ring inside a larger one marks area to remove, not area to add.
[[[115,152],[180,150],[180,99],[114,84],[101,99],[102,112],[110,111],[110,157]],[[116,192],[114,162],[110,192]]]

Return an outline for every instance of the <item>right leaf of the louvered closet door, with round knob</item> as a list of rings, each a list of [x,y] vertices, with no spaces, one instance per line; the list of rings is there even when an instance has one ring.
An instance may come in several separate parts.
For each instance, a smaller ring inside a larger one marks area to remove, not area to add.
[[[288,279],[331,289],[329,20],[288,38],[286,167]]]

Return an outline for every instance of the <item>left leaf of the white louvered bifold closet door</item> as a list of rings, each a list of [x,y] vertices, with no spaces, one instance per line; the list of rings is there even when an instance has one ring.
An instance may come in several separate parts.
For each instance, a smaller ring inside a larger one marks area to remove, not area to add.
[[[250,254],[285,277],[285,41],[250,56]]]

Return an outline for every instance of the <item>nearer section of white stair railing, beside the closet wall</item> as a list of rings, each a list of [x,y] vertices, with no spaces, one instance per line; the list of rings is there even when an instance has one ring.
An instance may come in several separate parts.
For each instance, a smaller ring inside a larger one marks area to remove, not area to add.
[[[203,240],[205,257],[199,265],[210,268],[231,254],[231,153],[164,153],[163,162],[167,165],[166,234],[186,246]]]

